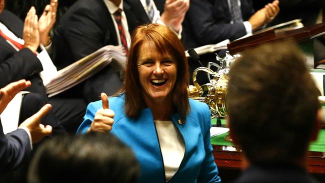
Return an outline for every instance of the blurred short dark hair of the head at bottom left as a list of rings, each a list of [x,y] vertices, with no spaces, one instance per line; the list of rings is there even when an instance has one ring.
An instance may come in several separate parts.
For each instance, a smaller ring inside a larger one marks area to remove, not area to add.
[[[28,171],[29,183],[136,182],[132,150],[110,133],[63,135],[45,141]]]

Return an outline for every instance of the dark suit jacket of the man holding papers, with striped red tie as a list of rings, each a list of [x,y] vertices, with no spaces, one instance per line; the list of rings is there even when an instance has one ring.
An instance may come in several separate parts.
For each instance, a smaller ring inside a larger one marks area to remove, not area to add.
[[[137,15],[123,1],[129,32],[139,24]],[[117,45],[116,30],[103,0],[78,0],[61,17],[53,37],[53,62],[58,69],[96,51],[105,45]],[[122,81],[119,73],[107,65],[84,82],[83,96],[88,101],[99,99],[100,92],[115,93]],[[80,93],[80,90],[74,94]]]

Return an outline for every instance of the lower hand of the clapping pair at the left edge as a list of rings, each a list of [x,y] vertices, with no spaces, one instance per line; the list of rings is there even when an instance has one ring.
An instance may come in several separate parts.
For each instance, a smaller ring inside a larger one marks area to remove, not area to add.
[[[52,133],[52,126],[40,124],[41,119],[50,111],[52,105],[45,104],[40,110],[31,117],[24,120],[19,126],[29,129],[32,143],[39,142],[44,136]]]

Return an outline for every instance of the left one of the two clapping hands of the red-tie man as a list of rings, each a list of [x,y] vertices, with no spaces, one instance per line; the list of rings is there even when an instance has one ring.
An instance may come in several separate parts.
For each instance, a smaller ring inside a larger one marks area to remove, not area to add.
[[[27,12],[23,25],[22,38],[24,40],[23,46],[29,48],[32,52],[36,52],[39,45],[39,33],[37,15],[34,6],[31,6]]]

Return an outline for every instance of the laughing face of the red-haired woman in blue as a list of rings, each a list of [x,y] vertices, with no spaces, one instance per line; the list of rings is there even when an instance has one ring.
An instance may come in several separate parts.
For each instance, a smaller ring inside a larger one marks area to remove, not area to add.
[[[139,47],[137,70],[146,102],[171,101],[177,75],[177,63],[171,54],[159,52],[153,43],[144,42]]]

